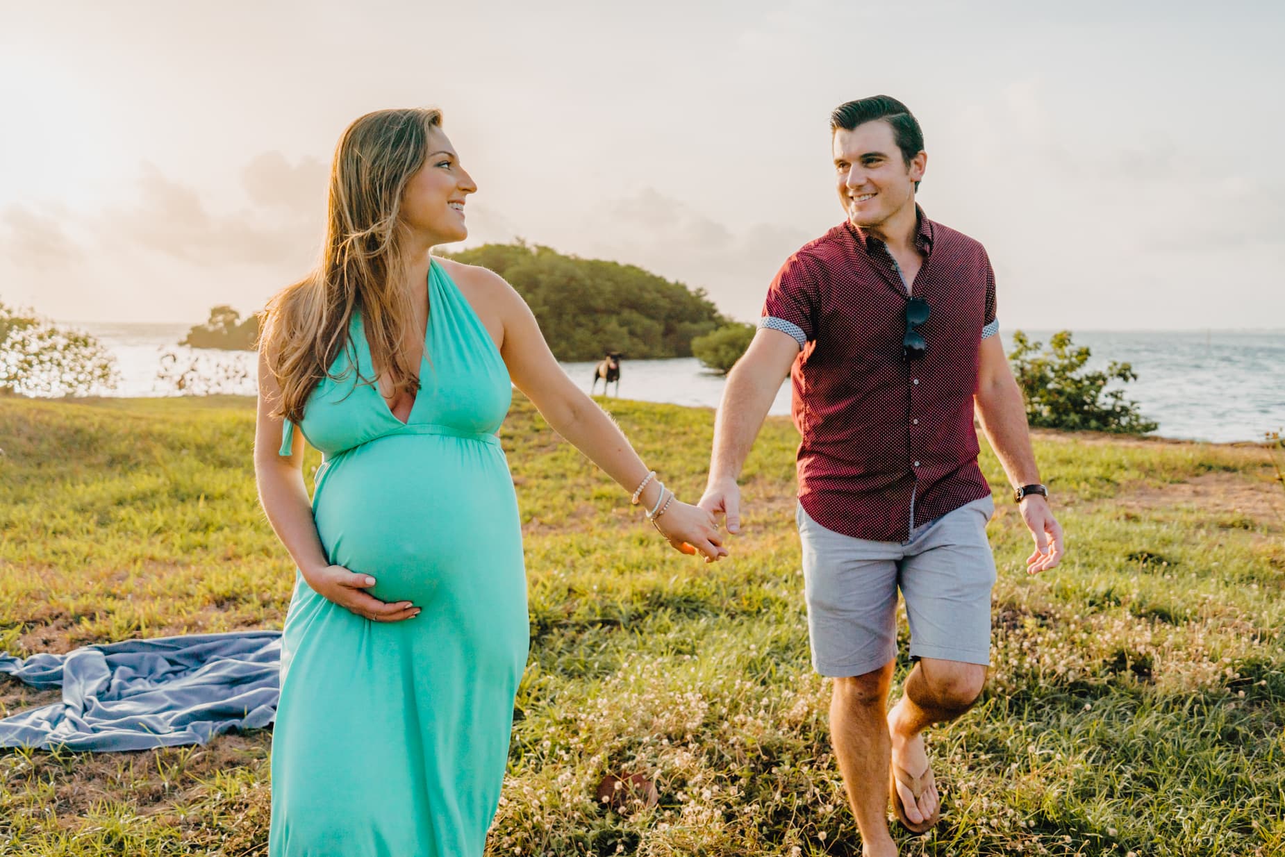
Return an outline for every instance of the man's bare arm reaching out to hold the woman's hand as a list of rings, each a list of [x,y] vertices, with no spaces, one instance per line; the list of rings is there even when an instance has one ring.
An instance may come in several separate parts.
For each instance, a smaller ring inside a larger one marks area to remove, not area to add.
[[[714,446],[709,456],[709,481],[696,504],[711,514],[726,517],[727,532],[740,532],[740,488],[736,478],[749,457],[776,392],[790,374],[799,343],[788,333],[761,328],[749,348],[727,374],[722,401],[714,416]]]

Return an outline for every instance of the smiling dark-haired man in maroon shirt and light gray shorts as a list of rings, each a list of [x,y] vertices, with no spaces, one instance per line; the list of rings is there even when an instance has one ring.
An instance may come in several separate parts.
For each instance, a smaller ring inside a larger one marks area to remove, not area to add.
[[[915,203],[928,161],[919,122],[879,95],[838,107],[830,128],[847,220],[772,281],[727,378],[700,505],[740,531],[736,478],[793,374],[812,662],[834,677],[835,755],[864,851],[882,857],[897,853],[889,797],[911,831],[937,822],[921,732],[966,712],[989,664],[995,508],[974,412],[1034,536],[1029,573],[1059,563],[1063,536],[996,335],[986,251]],[[898,588],[917,664],[888,712]]]

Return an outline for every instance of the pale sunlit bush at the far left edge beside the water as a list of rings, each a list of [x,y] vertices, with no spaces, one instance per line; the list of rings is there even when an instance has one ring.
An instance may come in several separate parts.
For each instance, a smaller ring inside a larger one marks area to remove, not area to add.
[[[116,360],[87,333],[0,303],[0,393],[86,396],[116,387]]]

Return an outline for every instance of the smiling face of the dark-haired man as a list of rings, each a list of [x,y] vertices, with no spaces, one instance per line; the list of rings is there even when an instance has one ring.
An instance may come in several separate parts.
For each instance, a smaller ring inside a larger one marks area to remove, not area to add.
[[[874,119],[839,128],[831,146],[839,202],[853,226],[879,226],[907,206],[914,209],[928,155],[920,152],[906,166],[891,125]]]

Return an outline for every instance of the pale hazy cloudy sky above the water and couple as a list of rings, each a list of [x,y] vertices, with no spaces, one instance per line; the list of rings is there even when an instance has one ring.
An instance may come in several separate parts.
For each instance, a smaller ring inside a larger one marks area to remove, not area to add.
[[[464,245],[640,265],[754,320],[843,220],[830,110],[888,94],[1002,326],[1285,328],[1282,35],[1268,0],[0,0],[0,302],[253,312],[316,258],[343,128],[438,107],[479,188]]]

